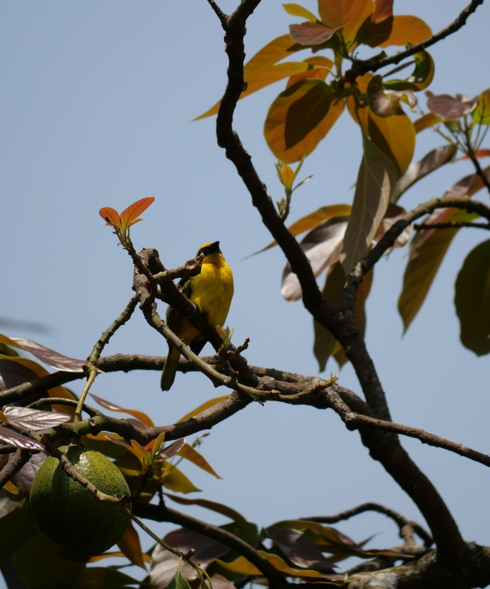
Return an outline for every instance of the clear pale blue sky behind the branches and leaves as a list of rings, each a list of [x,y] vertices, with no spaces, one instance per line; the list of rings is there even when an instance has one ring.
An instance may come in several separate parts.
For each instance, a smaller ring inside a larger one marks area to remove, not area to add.
[[[435,32],[465,4],[396,0],[395,14],[420,16]],[[221,5],[230,12],[236,0]],[[316,12],[313,0],[303,5]],[[216,102],[226,84],[223,31],[206,0],[4,1],[0,14],[0,331],[85,358],[132,294],[130,259],[98,210],[121,211],[153,195],[143,223],[132,231],[135,247],[156,247],[165,266],[175,267],[204,241],[220,240],[235,277],[227,321],[236,328],[234,343],[250,337],[245,354],[250,363],[317,375],[312,319],[301,302],[287,303],[279,292],[283,254],[276,248],[242,261],[271,238],[217,147],[214,117],[189,122]],[[278,0],[264,0],[247,24],[247,58],[293,22],[299,19],[287,15]],[[490,6],[485,4],[461,31],[430,49],[436,64],[433,92],[474,96],[490,86],[482,57],[488,52],[488,22]],[[241,101],[234,120],[274,200],[282,196],[282,187],[262,128],[267,108],[284,86],[278,82]],[[345,112],[303,164],[302,174],[313,178],[294,193],[291,221],[320,206],[352,201],[360,139]],[[441,144],[438,135],[424,131],[415,159]],[[417,184],[400,204],[412,208],[441,196],[471,171],[469,163],[449,164]],[[476,198],[487,201],[488,194],[481,191]],[[407,249],[377,264],[366,338],[393,419],[489,452],[489,360],[462,347],[453,305],[456,274],[466,254],[484,239],[481,231],[459,231],[403,338],[396,300]],[[323,283],[323,276],[319,280]],[[164,306],[159,310],[163,314]],[[12,327],[8,321],[14,320],[41,322],[46,330]],[[166,350],[137,311],[105,353],[164,355]],[[337,370],[334,360],[326,374],[330,370]],[[157,425],[173,423],[224,394],[201,375],[178,374],[168,393],[160,391],[159,382],[156,372],[113,373],[101,375],[92,391],[150,413]],[[348,365],[339,383],[360,393]],[[72,388],[80,392],[82,383]],[[489,544],[488,469],[415,440],[402,443],[441,491],[465,539]],[[203,489],[198,495],[227,503],[259,525],[334,514],[365,501],[422,519],[369,458],[359,435],[348,432],[331,411],[254,403],[217,425],[201,450],[223,480],[181,464]],[[226,521],[200,508],[188,513],[216,524]],[[161,534],[173,528],[152,527]],[[369,544],[373,548],[399,542],[395,525],[376,514],[337,527],[357,541],[378,533]],[[147,538],[142,542],[145,549],[151,545]]]

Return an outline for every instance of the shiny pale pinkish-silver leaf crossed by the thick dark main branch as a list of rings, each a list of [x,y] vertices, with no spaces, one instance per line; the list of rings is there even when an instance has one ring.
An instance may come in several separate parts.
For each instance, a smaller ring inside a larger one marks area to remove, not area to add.
[[[339,259],[348,219],[347,216],[327,219],[307,233],[300,242],[315,277]],[[289,262],[284,267],[281,294],[290,301],[302,296],[301,285]]]

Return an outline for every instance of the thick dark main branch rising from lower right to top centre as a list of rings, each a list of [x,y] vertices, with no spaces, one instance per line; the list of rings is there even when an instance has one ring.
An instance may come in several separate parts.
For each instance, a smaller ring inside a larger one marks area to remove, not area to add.
[[[226,27],[226,52],[229,58],[228,83],[221,100],[216,120],[217,142],[226,150],[226,157],[236,167],[251,195],[253,205],[261,219],[289,260],[299,279],[303,303],[320,325],[328,329],[340,342],[347,358],[352,362],[362,386],[366,401],[376,418],[390,421],[388,403],[372,358],[353,320],[353,313],[337,311],[327,305],[320,292],[306,256],[286,229],[251,163],[251,155],[244,149],[236,131],[233,130],[233,113],[244,88],[244,35],[245,27]],[[369,428],[360,429],[361,439],[372,458],[380,461],[386,471],[413,499],[431,528],[438,547],[438,557],[449,565],[456,565],[466,551],[451,512],[431,481],[412,462],[393,434]]]

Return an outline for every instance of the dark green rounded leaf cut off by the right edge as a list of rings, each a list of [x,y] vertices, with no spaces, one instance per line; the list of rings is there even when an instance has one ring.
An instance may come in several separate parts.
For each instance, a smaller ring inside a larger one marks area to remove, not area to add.
[[[483,356],[490,352],[490,240],[466,257],[456,279],[454,297],[461,322],[461,342]]]

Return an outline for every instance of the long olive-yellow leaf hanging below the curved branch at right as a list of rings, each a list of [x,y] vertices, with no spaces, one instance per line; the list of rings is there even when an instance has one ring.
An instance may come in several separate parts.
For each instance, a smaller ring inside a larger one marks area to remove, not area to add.
[[[441,221],[472,221],[477,217],[477,215],[466,213],[466,211],[453,209],[448,209],[448,211],[448,217],[441,218]],[[419,234],[413,239],[410,259],[403,277],[403,289],[398,299],[398,310],[403,319],[403,333],[406,333],[410,323],[419,312],[456,233],[458,233],[457,228],[432,230],[429,237],[415,248],[413,245],[417,243]]]

